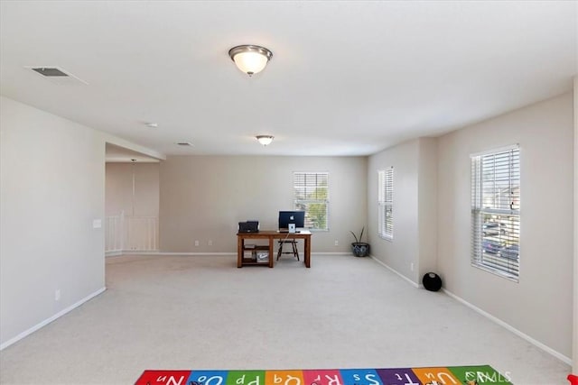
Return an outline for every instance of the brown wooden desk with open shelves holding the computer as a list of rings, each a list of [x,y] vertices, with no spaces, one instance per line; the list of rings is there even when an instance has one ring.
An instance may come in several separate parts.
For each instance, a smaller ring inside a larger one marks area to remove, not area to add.
[[[237,267],[242,268],[246,265],[262,265],[273,267],[275,261],[274,253],[274,243],[275,239],[303,239],[305,242],[305,247],[303,253],[305,254],[305,267],[311,267],[311,232],[307,230],[302,230],[299,233],[279,233],[275,230],[261,230],[258,233],[238,233],[237,234]],[[257,262],[257,261],[247,261],[243,258],[245,252],[245,240],[246,239],[266,239],[269,241],[269,263]]]

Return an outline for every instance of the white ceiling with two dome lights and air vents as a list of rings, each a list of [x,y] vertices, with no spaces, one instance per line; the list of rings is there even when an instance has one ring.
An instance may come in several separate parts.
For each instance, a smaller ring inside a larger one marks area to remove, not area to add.
[[[577,14],[575,1],[2,1],[0,86],[166,155],[367,155],[571,90]],[[238,44],[273,59],[248,78],[228,58]]]

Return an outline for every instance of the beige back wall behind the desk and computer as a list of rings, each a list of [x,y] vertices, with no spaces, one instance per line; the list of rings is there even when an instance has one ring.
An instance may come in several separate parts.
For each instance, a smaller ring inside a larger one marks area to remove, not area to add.
[[[293,171],[329,172],[330,231],[313,234],[312,252],[350,252],[350,230],[366,225],[365,157],[169,156],[160,167],[162,252],[236,252],[247,219],[276,229]]]

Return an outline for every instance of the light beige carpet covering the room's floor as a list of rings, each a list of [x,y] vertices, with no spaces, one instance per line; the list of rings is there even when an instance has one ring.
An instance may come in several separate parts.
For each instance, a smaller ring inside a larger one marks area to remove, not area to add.
[[[395,368],[489,364],[517,385],[570,367],[442,292],[369,258],[107,260],[107,291],[0,353],[5,384],[132,384],[145,369]]]

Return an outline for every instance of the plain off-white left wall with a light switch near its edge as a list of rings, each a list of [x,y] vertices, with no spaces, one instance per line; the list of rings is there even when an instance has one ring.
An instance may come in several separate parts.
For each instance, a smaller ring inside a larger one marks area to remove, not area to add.
[[[98,131],[0,97],[0,344],[104,289],[104,157]]]

